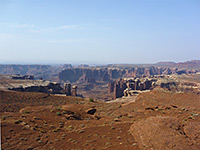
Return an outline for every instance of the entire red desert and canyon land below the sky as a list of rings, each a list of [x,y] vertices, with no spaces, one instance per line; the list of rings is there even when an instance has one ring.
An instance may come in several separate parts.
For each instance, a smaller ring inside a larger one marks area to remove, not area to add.
[[[198,150],[200,61],[192,62],[70,67],[50,80],[33,66],[1,66],[1,148]]]

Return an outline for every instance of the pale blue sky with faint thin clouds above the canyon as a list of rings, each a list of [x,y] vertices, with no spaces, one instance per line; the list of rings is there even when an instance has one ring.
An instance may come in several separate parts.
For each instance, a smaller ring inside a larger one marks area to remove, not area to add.
[[[199,0],[0,0],[0,63],[197,59]]]

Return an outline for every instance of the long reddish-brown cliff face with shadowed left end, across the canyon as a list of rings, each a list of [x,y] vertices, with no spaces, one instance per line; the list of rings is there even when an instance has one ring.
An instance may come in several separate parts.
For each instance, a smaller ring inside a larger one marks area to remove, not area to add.
[[[65,69],[59,73],[59,79],[62,81],[82,81],[82,82],[95,82],[95,81],[111,81],[121,77],[141,77],[151,75],[170,75],[170,74],[188,74],[191,71],[180,70],[177,68],[166,67],[143,67],[143,68],[130,68],[130,69],[117,69],[117,68],[71,68]]]

